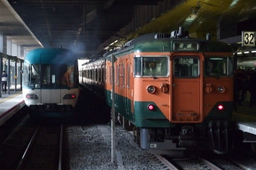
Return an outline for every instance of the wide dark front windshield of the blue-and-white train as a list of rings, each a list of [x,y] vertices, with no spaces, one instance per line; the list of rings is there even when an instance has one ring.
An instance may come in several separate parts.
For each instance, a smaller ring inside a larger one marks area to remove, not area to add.
[[[24,64],[23,86],[29,88],[73,88],[78,85],[77,66],[68,64]]]

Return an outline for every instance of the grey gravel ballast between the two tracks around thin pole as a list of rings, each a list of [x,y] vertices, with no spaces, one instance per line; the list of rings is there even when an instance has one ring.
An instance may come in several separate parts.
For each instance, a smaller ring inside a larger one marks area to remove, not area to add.
[[[168,169],[154,154],[142,150],[133,142],[133,134],[116,127],[115,153],[117,159],[111,162],[111,127],[88,125],[66,127],[65,148],[69,157],[64,160],[70,170],[95,169]]]

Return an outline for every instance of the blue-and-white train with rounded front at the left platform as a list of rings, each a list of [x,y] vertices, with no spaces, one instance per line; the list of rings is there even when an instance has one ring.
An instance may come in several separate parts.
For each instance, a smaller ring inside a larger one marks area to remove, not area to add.
[[[33,117],[69,117],[79,96],[78,58],[62,48],[33,49],[24,58],[23,98]]]

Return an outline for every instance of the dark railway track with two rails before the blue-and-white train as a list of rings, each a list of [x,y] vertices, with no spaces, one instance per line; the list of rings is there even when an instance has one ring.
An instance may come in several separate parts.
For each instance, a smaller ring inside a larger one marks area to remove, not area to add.
[[[38,125],[16,170],[62,169],[62,125]]]

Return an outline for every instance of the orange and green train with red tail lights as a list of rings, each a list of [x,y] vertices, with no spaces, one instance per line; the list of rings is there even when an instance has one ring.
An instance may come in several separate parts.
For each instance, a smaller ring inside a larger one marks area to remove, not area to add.
[[[123,127],[136,127],[142,148],[226,153],[233,113],[233,49],[172,34],[145,34],[82,65],[80,82],[112,106]]]

